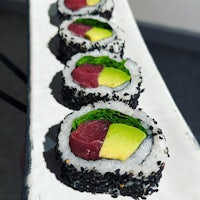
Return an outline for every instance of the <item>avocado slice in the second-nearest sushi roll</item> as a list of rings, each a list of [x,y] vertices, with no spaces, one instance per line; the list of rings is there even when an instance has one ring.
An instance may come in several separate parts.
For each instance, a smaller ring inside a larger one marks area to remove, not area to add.
[[[130,81],[131,77],[124,71],[113,67],[104,67],[99,75],[99,85],[115,88],[123,83]]]

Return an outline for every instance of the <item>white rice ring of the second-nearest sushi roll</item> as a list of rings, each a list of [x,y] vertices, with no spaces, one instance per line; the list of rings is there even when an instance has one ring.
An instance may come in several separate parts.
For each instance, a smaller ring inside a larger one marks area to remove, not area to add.
[[[118,96],[120,99],[123,100],[130,100],[131,95],[138,94],[139,93],[139,88],[138,84],[142,82],[142,77],[140,73],[140,67],[132,60],[130,59],[125,59],[125,67],[129,70],[130,76],[131,76],[131,82],[129,84],[123,85],[122,88],[117,87],[116,89],[112,89],[110,87],[106,86],[99,86],[97,88],[82,88],[78,83],[74,82],[71,73],[76,67],[76,62],[84,57],[84,56],[94,56],[94,57],[99,57],[99,56],[108,56],[109,58],[121,62],[122,59],[116,56],[113,53],[110,53],[108,51],[104,50],[94,50],[93,52],[89,53],[78,53],[74,55],[71,60],[69,60],[66,63],[65,68],[63,69],[63,78],[65,80],[64,85],[71,87],[71,88],[76,88],[76,95],[78,96],[79,91],[84,91],[85,95],[91,94],[91,93],[100,93],[101,96],[108,95],[109,99],[113,98],[113,95],[115,94]],[[121,90],[119,90],[121,89]],[[126,94],[126,95],[124,95]]]

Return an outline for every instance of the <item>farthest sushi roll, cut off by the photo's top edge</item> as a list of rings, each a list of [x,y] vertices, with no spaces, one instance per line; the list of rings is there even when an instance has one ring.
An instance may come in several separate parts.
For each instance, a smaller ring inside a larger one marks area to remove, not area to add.
[[[64,19],[88,14],[110,19],[113,7],[113,0],[58,0],[58,11]]]

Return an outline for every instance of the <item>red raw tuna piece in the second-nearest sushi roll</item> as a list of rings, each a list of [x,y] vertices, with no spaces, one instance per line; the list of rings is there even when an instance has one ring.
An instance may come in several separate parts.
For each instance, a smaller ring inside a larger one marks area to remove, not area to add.
[[[99,85],[98,77],[102,70],[102,65],[85,63],[72,71],[72,78],[84,88],[96,88]]]

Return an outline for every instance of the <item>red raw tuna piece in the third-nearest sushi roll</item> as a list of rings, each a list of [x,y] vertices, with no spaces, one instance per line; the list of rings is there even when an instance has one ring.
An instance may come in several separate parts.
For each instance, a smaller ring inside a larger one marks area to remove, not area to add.
[[[92,27],[85,24],[72,23],[68,26],[68,29],[77,36],[85,37],[87,31]]]

